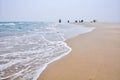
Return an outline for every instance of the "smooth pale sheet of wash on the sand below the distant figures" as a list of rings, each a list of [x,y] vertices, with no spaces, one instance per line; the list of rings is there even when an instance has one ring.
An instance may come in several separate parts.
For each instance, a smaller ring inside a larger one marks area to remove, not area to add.
[[[85,34],[91,32],[95,29],[95,27],[84,27],[83,25],[75,25],[75,24],[58,24],[58,32],[64,34],[65,39],[70,39],[79,34]]]

